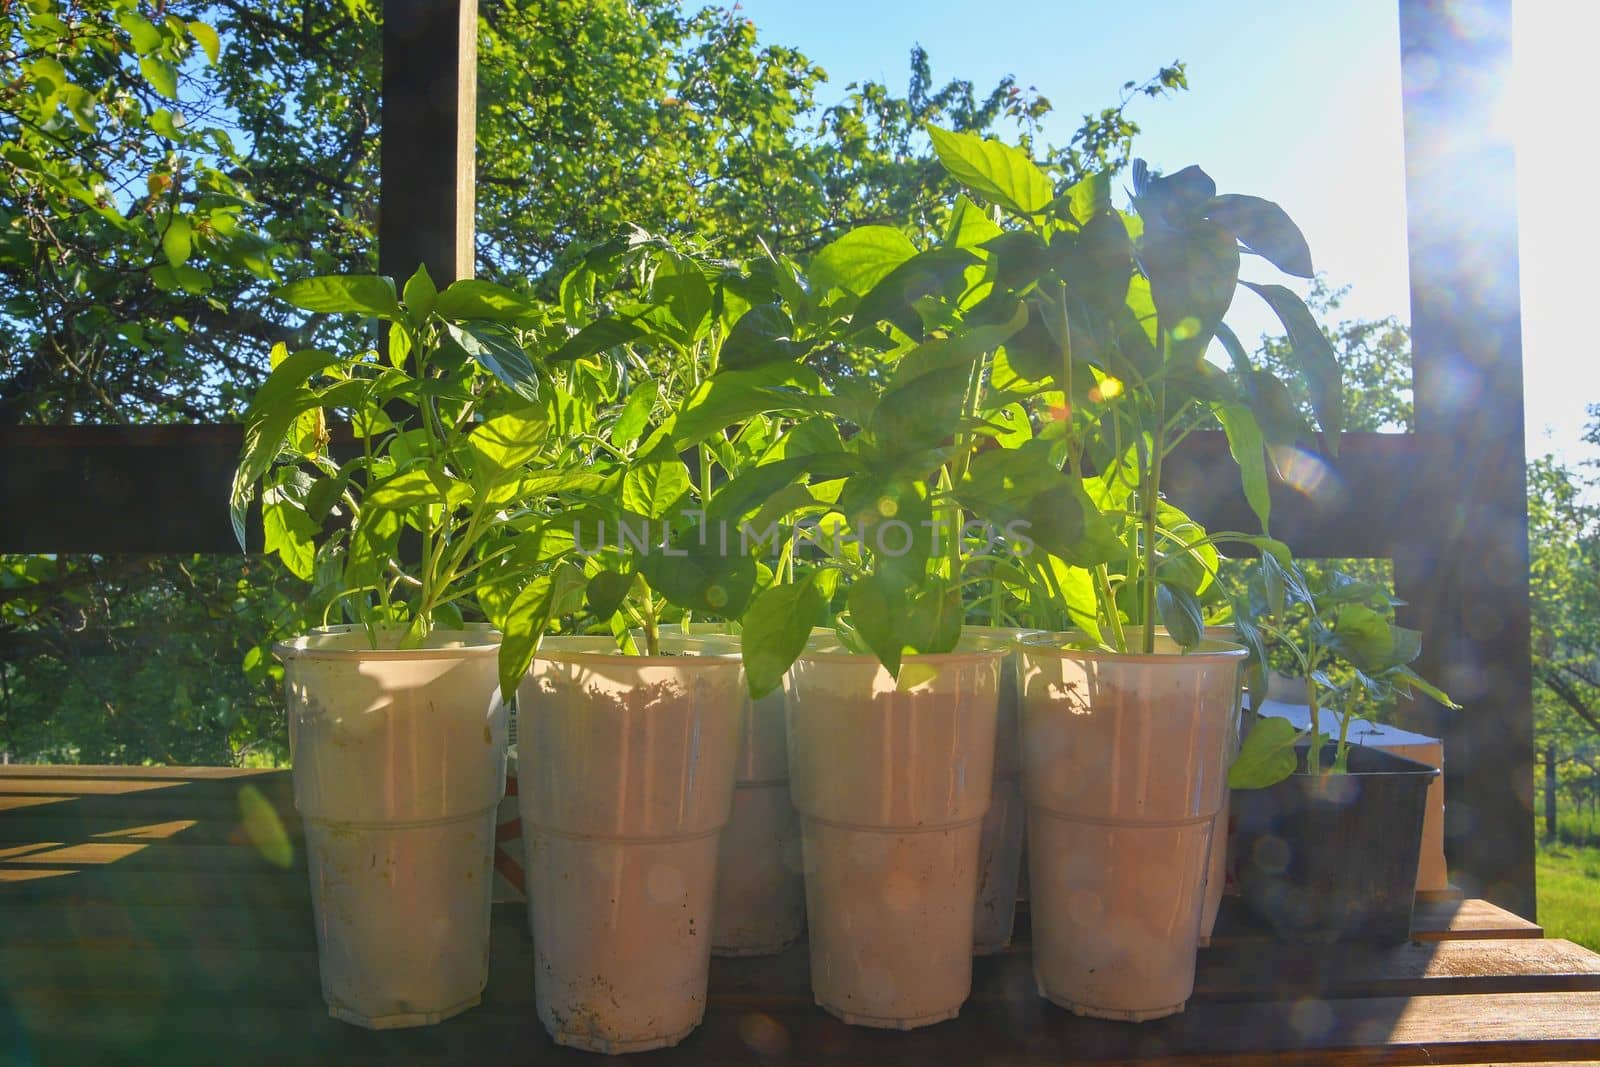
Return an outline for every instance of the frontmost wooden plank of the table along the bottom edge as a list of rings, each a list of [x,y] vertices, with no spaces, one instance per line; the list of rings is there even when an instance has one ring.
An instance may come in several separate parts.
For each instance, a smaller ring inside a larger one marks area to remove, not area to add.
[[[309,976],[307,976],[309,977]],[[331,1022],[306,981],[294,1001],[245,1006],[205,990],[126,989],[123,995],[13,995],[29,1043],[50,1059],[115,1049],[182,1061],[227,1048],[230,1064],[451,1064],[517,1056],[539,1064],[590,1064],[554,1046],[526,990],[421,1030],[371,1033]],[[91,1006],[91,1011],[85,1008]],[[1078,1019],[1032,998],[973,1003],[962,1017],[914,1032],[846,1027],[811,1005],[723,1009],[654,1064],[1482,1064],[1594,1059],[1600,993],[1298,1000],[1197,1005],[1142,1025]]]

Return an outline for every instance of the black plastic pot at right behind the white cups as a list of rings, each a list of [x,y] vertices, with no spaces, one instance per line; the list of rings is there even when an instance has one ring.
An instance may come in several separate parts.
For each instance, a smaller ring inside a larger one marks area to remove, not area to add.
[[[1322,766],[1333,765],[1333,745]],[[1398,944],[1411,936],[1427,787],[1438,769],[1350,747],[1347,774],[1299,773],[1234,790],[1240,893],[1285,941]]]

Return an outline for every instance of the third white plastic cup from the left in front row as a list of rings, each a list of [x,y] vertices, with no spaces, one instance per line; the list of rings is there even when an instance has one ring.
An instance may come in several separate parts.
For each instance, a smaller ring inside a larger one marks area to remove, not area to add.
[[[1005,646],[870,656],[814,641],[786,680],[805,845],[811,992],[850,1024],[909,1030],[971,993],[978,845]]]

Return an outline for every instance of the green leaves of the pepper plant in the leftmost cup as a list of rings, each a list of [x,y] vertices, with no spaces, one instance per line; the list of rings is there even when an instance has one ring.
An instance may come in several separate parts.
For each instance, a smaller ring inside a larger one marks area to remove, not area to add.
[[[539,379],[522,346],[542,326],[531,304],[528,322],[517,323],[522,333],[499,320],[450,320],[440,307],[477,309],[485,296],[494,298],[491,306],[525,306],[482,283],[472,286],[474,301],[453,288],[438,293],[421,267],[405,286],[410,306],[392,280],[370,275],[282,286],[280,299],[302,310],[384,320],[387,358],[365,347],[280,349],[245,414],[232,494],[240,547],[259,488],[266,549],[310,584],[309,617],[362,622],[374,645],[397,640],[384,630],[403,629],[398,645],[414,646],[435,625],[478,609],[482,587],[515,581],[485,569],[517,550],[504,537],[501,510],[514,502],[536,509],[550,490],[582,482],[554,461],[560,416],[530,403]],[[525,370],[509,373],[509,365]],[[325,427],[333,421],[350,426],[358,454],[331,448]],[[406,531],[416,533],[419,550],[402,545]],[[514,611],[531,609],[525,598]]]

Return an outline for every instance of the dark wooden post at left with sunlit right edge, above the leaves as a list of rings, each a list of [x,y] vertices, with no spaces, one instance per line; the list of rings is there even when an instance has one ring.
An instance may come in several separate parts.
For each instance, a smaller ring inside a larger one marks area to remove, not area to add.
[[[378,269],[472,277],[477,0],[384,0]]]

